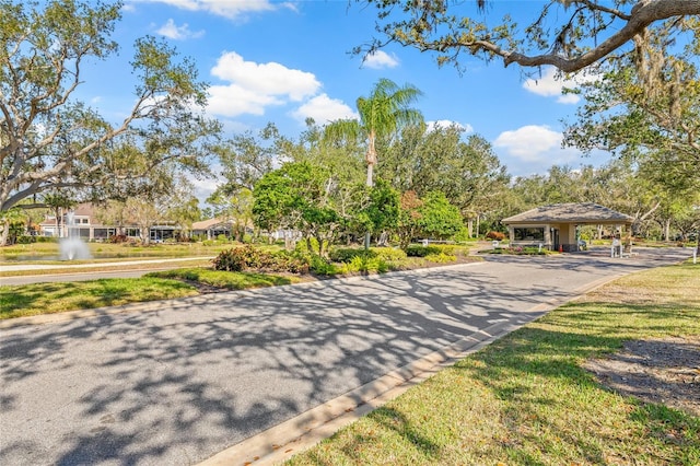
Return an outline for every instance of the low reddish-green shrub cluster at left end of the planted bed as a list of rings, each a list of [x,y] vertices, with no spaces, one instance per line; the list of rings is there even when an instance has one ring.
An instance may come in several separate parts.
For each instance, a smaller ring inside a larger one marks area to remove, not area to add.
[[[280,251],[269,253],[253,245],[234,247],[219,253],[213,260],[214,270],[307,273],[310,260],[305,256]]]

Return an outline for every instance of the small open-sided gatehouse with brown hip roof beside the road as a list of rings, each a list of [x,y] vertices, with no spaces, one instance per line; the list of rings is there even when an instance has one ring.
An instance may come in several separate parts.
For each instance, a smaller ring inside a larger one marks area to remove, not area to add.
[[[578,226],[629,228],[634,219],[593,202],[552,203],[503,219],[511,245],[539,246],[563,252],[579,251]]]

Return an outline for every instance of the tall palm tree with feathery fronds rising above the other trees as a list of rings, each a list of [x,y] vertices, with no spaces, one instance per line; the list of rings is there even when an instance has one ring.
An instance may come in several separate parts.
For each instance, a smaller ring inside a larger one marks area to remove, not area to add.
[[[326,127],[326,136],[336,139],[342,137],[363,138],[368,148],[368,186],[374,184],[374,165],[376,165],[376,141],[378,138],[393,137],[402,127],[423,120],[422,114],[410,105],[422,95],[411,85],[399,86],[394,81],[383,78],[374,84],[369,97],[361,96],[357,101],[360,119],[336,120]]]

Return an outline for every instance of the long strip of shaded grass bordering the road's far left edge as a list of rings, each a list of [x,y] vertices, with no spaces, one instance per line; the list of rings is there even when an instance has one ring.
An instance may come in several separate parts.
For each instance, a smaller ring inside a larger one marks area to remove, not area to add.
[[[205,268],[150,272],[141,278],[0,287],[0,318],[55,314],[199,294],[202,284],[225,290],[272,287],[295,277],[222,272]]]

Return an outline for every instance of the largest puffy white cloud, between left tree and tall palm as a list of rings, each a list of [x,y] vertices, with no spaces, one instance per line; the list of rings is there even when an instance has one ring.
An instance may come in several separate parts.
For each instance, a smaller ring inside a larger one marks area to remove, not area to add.
[[[300,102],[315,95],[320,83],[313,73],[280,63],[245,61],[238,54],[224,53],[211,73],[229,84],[209,88],[209,110],[215,115],[262,115],[269,105]]]

